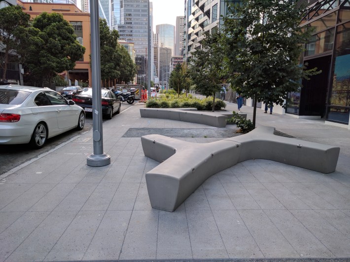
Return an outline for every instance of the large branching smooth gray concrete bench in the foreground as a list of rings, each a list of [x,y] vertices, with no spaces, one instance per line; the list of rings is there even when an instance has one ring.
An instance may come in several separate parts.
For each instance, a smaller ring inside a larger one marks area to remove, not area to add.
[[[249,159],[268,159],[322,173],[334,172],[339,147],[274,135],[259,127],[247,134],[199,144],[150,134],[141,137],[144,155],[160,162],[146,173],[153,208],[174,211],[211,175]]]

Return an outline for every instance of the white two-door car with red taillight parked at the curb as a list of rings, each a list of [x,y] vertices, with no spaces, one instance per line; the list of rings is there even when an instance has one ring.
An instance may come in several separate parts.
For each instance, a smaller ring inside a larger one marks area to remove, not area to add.
[[[0,85],[0,144],[41,148],[48,138],[84,125],[84,109],[51,89]]]

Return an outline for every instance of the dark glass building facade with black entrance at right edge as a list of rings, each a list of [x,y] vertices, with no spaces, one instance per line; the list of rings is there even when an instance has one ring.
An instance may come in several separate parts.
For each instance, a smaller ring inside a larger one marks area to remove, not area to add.
[[[302,17],[313,28],[301,64],[322,72],[303,81],[300,92],[289,94],[286,112],[320,116],[349,124],[350,117],[350,0],[319,0]]]

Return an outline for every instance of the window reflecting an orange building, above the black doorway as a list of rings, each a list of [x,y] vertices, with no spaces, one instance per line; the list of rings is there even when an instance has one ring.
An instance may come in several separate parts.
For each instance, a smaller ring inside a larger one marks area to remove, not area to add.
[[[306,44],[305,56],[320,54],[333,49],[334,28],[313,35]]]

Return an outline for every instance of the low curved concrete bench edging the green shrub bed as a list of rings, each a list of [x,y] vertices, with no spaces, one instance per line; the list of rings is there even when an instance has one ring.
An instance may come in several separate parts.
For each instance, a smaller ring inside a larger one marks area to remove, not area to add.
[[[203,112],[197,111],[197,108],[140,108],[140,115],[141,117],[164,118],[224,128],[226,119],[232,116],[232,113]],[[246,118],[246,114],[241,115]]]

